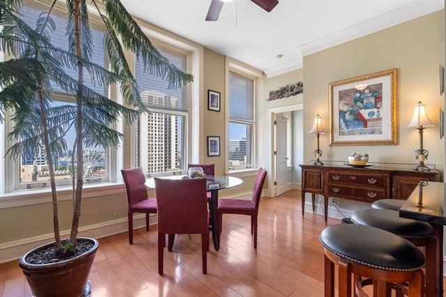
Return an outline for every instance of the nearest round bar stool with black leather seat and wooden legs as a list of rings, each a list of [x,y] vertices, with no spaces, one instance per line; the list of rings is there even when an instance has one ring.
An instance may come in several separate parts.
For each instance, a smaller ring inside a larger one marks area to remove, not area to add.
[[[391,232],[357,224],[325,227],[319,236],[325,254],[325,297],[334,297],[334,264],[339,297],[351,297],[352,274],[374,280],[374,296],[387,296],[389,283],[408,283],[408,296],[423,296],[424,257],[410,241]],[[355,282],[355,294],[367,296]]]

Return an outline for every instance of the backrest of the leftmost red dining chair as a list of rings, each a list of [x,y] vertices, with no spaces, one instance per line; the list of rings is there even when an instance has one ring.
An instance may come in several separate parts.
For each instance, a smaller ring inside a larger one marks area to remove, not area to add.
[[[141,167],[132,169],[121,169],[123,174],[125,189],[127,190],[127,201],[129,207],[139,201],[148,199],[146,176]]]

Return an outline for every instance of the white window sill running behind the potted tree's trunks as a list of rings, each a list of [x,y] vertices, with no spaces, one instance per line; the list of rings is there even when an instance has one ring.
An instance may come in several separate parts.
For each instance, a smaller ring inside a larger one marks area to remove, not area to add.
[[[82,198],[112,195],[125,192],[123,183],[95,183],[85,184],[82,188]],[[57,188],[58,201],[71,200],[71,186]],[[15,192],[0,194],[0,208],[42,204],[52,201],[51,188],[17,190]]]

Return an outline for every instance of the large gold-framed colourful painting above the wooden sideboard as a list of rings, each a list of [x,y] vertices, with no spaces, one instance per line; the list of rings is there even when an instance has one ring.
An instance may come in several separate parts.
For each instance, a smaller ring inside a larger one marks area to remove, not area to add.
[[[329,84],[330,146],[397,144],[397,69]]]

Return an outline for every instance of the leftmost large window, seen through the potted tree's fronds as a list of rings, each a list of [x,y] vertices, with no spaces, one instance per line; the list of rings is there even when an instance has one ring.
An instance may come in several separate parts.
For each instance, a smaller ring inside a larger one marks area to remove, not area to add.
[[[22,7],[20,13],[22,19],[31,27],[36,27],[36,20],[40,16],[40,13],[46,13],[48,6],[41,3],[26,3]],[[66,13],[63,10],[55,9],[52,12],[52,19],[56,24],[56,29],[51,33],[50,38],[53,45],[61,47],[64,50],[68,50],[68,42],[66,38]],[[91,56],[91,61],[107,68],[108,60],[103,50],[102,41],[104,38],[104,29],[99,23],[91,21],[91,29],[94,38],[94,52]],[[77,70],[66,69],[66,73],[73,78],[77,78]],[[108,95],[108,86],[98,86],[94,84],[91,75],[84,71],[84,84],[94,89],[98,93],[102,93],[105,96]],[[52,83],[53,94],[51,102],[52,106],[60,105],[74,105],[74,96],[68,96],[64,93],[59,86]],[[75,129],[72,128],[68,131],[64,137],[67,142],[68,149],[60,154],[54,154],[52,159],[55,167],[56,183],[59,185],[69,185],[71,183],[72,176],[72,153],[75,142]],[[84,147],[84,178],[86,183],[108,181],[108,163],[109,157],[105,148],[101,146],[97,147]],[[75,167],[77,164],[74,164]],[[22,188],[45,188],[49,187],[49,172],[45,156],[45,150],[42,148],[39,151],[30,151],[26,155],[22,155],[20,160],[14,161],[14,166],[18,170],[14,176],[14,189]],[[11,189],[10,189],[11,190]]]

